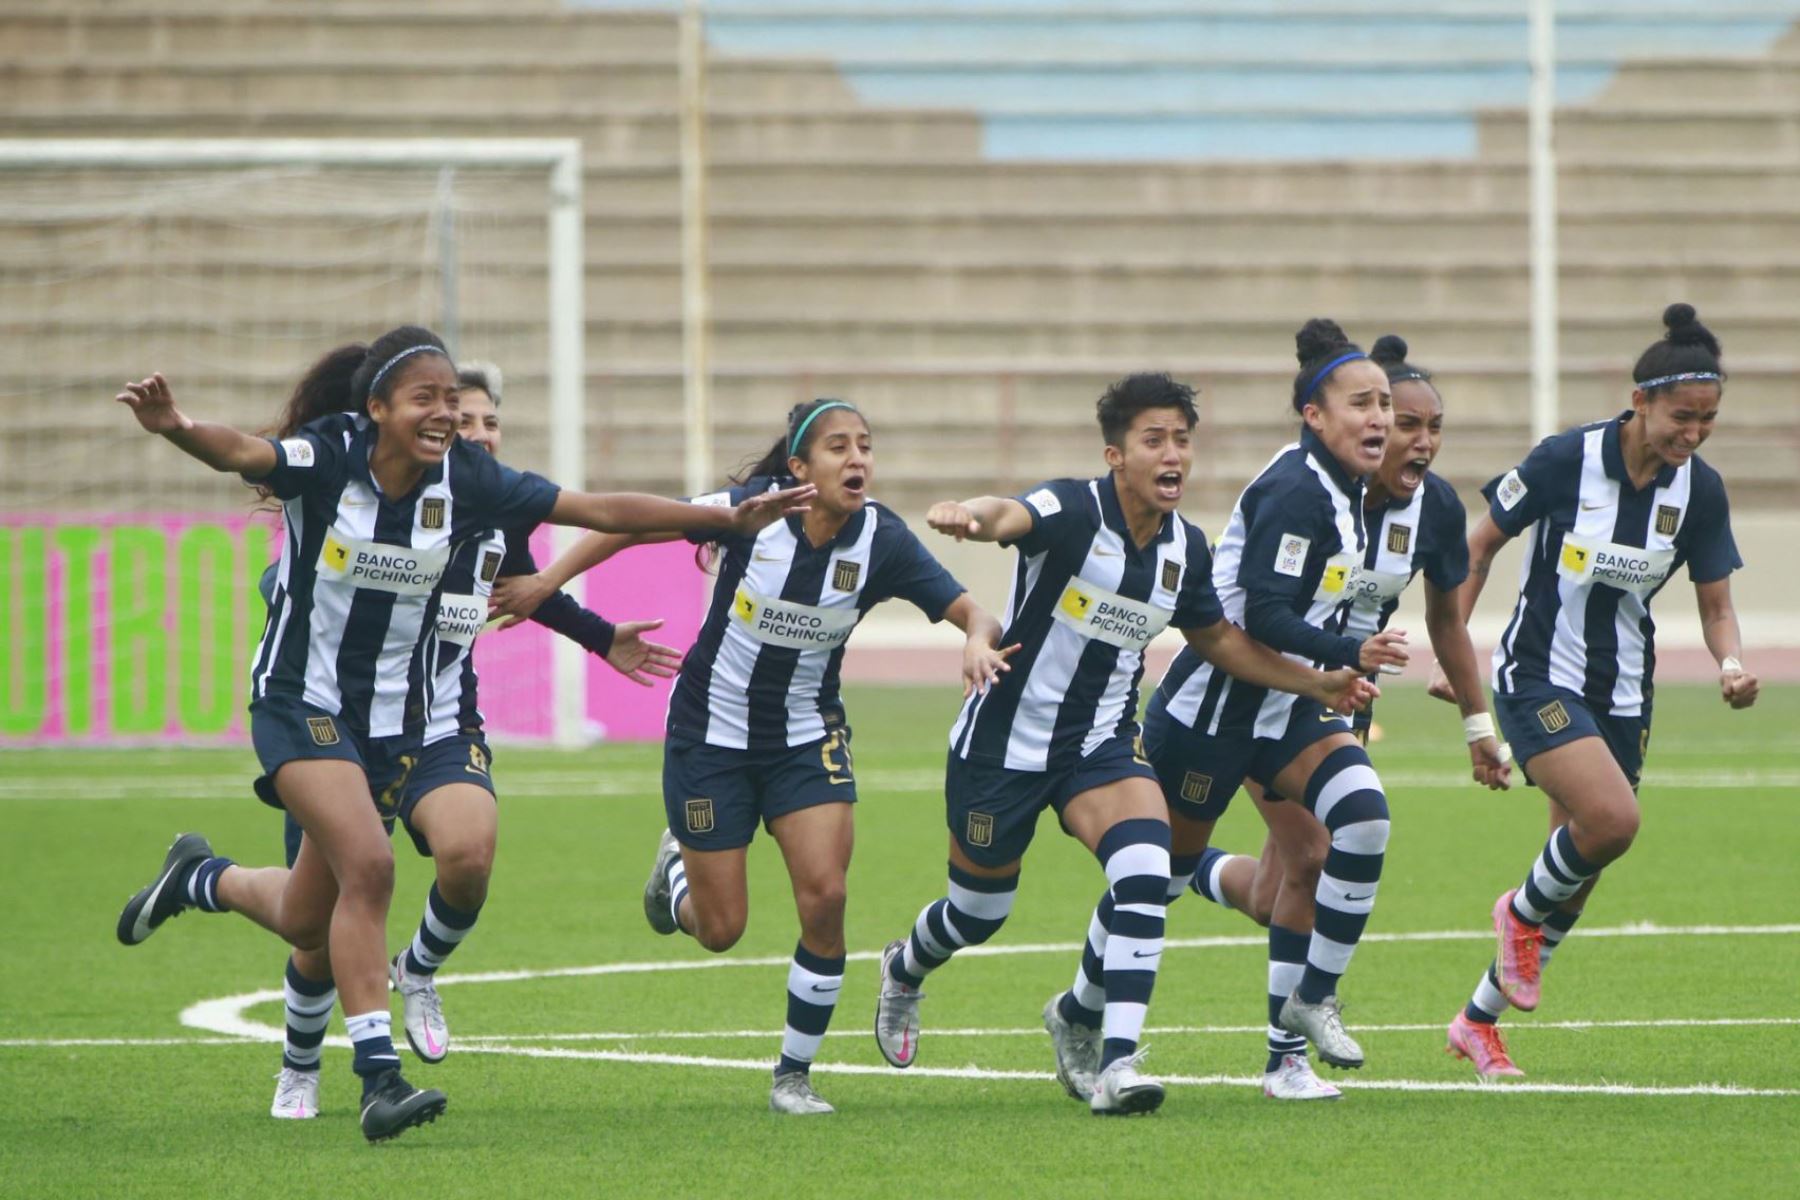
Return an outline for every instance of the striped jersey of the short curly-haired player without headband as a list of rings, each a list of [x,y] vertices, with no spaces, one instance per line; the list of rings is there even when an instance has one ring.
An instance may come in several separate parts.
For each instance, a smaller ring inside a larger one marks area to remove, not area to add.
[[[1006,599],[1012,671],[974,694],[950,727],[965,759],[1062,770],[1138,732],[1143,651],[1168,626],[1220,619],[1206,534],[1179,513],[1139,549],[1111,475],[1057,479],[1019,497],[1031,533]]]

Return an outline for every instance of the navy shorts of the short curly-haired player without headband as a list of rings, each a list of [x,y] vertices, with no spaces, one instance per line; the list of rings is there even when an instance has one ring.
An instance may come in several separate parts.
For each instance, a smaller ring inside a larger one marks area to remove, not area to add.
[[[1060,770],[1013,770],[972,763],[950,750],[943,768],[943,817],[950,837],[981,867],[1024,858],[1037,817],[1062,808],[1082,792],[1120,779],[1156,779],[1139,738],[1109,738],[1093,754]]]

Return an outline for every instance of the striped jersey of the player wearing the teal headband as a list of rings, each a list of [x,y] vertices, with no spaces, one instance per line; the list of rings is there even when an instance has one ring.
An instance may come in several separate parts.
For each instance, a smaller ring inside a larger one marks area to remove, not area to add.
[[[756,477],[695,504],[736,506],[776,486]],[[718,536],[718,545],[713,603],[675,678],[668,716],[670,736],[715,747],[824,738],[844,723],[837,675],[862,613],[898,596],[940,621],[963,594],[905,522],[873,500],[823,547],[806,540],[799,516],[754,540]]]

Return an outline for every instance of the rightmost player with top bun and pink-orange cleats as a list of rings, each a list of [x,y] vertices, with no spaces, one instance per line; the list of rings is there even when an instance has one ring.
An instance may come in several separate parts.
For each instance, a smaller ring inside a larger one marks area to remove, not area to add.
[[[1721,698],[1733,709],[1757,702],[1757,676],[1739,662],[1732,572],[1744,563],[1724,480],[1696,453],[1724,392],[1719,338],[1688,304],[1670,304],[1663,326],[1631,371],[1631,408],[1541,441],[1492,486],[1469,534],[1463,617],[1496,551],[1528,538],[1519,599],[1494,649],[1494,707],[1525,779],[1550,797],[1550,840],[1525,882],[1494,901],[1498,955],[1449,1027],[1449,1051],[1483,1079],[1525,1074],[1499,1016],[1537,1007],[1544,959],[1600,869],[1638,833],[1656,666],[1651,599],[1683,565]]]

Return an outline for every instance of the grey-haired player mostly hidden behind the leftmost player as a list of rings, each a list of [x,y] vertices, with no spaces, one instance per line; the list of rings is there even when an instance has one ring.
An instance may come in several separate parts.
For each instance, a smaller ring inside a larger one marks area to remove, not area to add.
[[[324,392],[304,392],[313,403]],[[457,367],[457,437],[499,455],[500,371],[491,363],[464,362]],[[324,412],[283,414],[277,437],[293,437]],[[493,871],[499,808],[493,790],[493,750],[477,707],[475,635],[488,619],[488,594],[495,576],[536,570],[531,560],[531,525],[464,543],[445,570],[437,604],[436,687],[425,723],[425,747],[407,775],[398,817],[421,855],[434,860],[436,880],[425,900],[412,945],[394,955],[391,975],[403,1000],[403,1027],[412,1051],[425,1061],[441,1061],[450,1051],[450,1029],[437,995],[437,970],[473,930],[488,898]],[[499,567],[495,567],[499,563]],[[265,579],[274,585],[275,569]],[[661,621],[610,624],[558,592],[533,613],[533,621],[605,658],[626,678],[650,685],[652,676],[673,676],[680,653],[652,642],[646,631]],[[288,865],[299,855],[301,826],[284,817]],[[319,1115],[319,1047],[324,1040],[337,988],[331,984],[329,950],[295,950],[283,981],[286,995],[286,1043],[270,1115],[310,1119]]]

